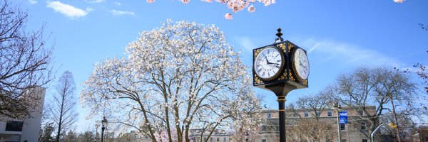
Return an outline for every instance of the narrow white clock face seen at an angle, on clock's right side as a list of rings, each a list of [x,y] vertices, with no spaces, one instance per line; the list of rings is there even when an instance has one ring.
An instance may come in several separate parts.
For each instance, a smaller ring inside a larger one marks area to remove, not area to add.
[[[297,77],[302,80],[306,80],[309,76],[309,61],[307,60],[305,51],[301,48],[297,48],[293,54],[292,60],[294,62],[293,64]]]

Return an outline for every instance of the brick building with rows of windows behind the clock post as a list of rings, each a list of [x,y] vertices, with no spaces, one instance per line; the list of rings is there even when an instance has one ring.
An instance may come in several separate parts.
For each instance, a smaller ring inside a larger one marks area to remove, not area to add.
[[[375,107],[367,108],[374,113]],[[342,142],[370,141],[370,121],[361,119],[362,111],[344,107],[347,111],[348,123],[340,125]],[[269,142],[279,140],[279,118],[277,110],[265,110],[265,123],[257,141]],[[337,141],[337,111],[325,109],[315,113],[308,110],[288,111],[286,116],[287,141]],[[305,128],[306,127],[306,128]],[[322,128],[320,128],[322,127]],[[312,136],[308,138],[308,136]]]

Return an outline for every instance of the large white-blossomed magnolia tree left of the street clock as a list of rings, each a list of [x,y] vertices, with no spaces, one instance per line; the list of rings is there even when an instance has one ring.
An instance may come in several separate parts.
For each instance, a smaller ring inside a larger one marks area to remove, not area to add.
[[[168,20],[143,31],[126,54],[96,64],[83,83],[88,117],[105,107],[117,128],[178,142],[190,141],[191,129],[206,141],[215,129],[251,131],[263,118],[247,68],[215,26]]]

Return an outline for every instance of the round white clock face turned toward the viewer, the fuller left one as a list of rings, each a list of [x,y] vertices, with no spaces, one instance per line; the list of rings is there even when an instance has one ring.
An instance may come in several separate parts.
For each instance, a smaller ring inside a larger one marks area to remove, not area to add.
[[[254,70],[261,80],[272,80],[280,74],[284,59],[275,47],[263,48],[255,57]]]

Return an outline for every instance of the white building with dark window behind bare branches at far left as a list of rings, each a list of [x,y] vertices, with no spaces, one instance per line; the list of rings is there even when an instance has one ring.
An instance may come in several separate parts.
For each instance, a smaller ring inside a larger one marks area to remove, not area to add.
[[[39,131],[41,126],[41,111],[44,105],[46,89],[37,87],[30,93],[38,95],[41,99],[37,107],[30,114],[31,118],[21,120],[0,121],[0,142],[36,142],[39,141]]]

